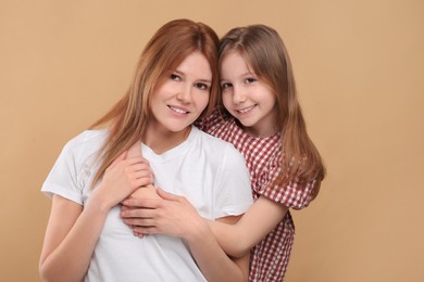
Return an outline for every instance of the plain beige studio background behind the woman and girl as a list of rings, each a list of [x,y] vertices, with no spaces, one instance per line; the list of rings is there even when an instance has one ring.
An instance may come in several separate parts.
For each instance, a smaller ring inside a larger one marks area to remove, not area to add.
[[[220,36],[264,23],[289,49],[328,177],[294,211],[286,281],[424,281],[423,15],[421,0],[1,0],[0,280],[39,281],[60,150],[126,90],[153,31],[189,17]]]

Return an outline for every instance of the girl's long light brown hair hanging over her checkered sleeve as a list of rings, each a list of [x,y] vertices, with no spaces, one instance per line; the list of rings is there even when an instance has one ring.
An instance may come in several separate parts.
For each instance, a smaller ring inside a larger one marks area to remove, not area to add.
[[[275,29],[265,25],[236,27],[221,39],[220,65],[223,57],[234,51],[239,52],[258,78],[276,95],[275,127],[282,132],[279,162],[283,174],[274,180],[274,184],[290,179],[301,182],[315,180],[315,197],[325,177],[325,167],[308,136],[290,59],[282,38]]]

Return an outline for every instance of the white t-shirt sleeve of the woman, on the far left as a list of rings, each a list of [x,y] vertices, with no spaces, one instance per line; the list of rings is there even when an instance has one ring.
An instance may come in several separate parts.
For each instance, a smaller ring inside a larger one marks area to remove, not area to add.
[[[57,194],[83,205],[83,187],[78,176],[78,140],[72,139],[64,145],[42,184],[41,192],[49,197]]]

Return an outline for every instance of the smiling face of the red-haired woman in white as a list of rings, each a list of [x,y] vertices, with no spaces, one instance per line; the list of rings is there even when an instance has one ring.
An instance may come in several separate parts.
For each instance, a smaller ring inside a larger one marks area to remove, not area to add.
[[[212,72],[200,52],[188,55],[152,94],[149,128],[171,133],[187,129],[209,102]]]

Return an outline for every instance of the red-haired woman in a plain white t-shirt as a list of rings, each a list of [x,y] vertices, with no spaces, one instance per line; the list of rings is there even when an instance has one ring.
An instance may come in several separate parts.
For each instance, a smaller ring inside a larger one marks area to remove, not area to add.
[[[145,48],[127,93],[95,124],[107,127],[65,145],[42,187],[52,196],[40,257],[43,280],[247,278],[248,256],[230,260],[202,218],[190,219],[194,228],[182,239],[139,240],[119,216],[124,198],[152,183],[141,150],[152,161],[155,182],[189,198],[192,214],[235,222],[251,205],[239,152],[191,126],[217,99],[217,42],[204,24],[165,24]]]

